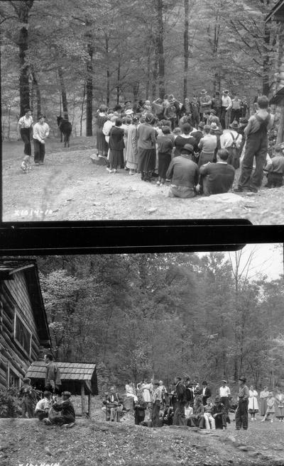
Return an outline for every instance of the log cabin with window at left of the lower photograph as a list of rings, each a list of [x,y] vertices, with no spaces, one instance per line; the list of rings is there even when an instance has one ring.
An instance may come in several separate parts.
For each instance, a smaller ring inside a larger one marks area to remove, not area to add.
[[[51,349],[33,260],[0,260],[0,389],[20,387],[28,367]]]

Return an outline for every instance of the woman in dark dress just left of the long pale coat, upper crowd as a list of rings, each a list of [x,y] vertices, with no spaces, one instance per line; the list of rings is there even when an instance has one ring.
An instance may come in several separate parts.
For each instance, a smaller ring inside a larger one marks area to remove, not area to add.
[[[117,167],[124,168],[124,129],[121,124],[121,119],[116,118],[109,132],[109,173],[116,173]]]

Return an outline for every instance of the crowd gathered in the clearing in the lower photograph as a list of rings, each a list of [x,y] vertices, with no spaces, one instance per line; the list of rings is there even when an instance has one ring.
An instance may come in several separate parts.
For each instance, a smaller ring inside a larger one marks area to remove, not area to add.
[[[126,399],[131,399],[135,423],[141,426],[190,426],[214,430],[226,430],[230,423],[229,413],[234,413],[236,430],[249,426],[260,414],[262,422],[273,422],[273,416],[279,422],[284,418],[284,393],[279,388],[275,394],[264,387],[260,393],[253,385],[247,387],[246,377],[239,377],[239,393],[236,399],[226,380],[222,380],[219,389],[212,394],[207,382],[202,384],[189,377],[175,377],[172,390],[168,390],[163,381],[143,380],[134,387],[128,382],[125,386]],[[129,404],[125,398],[111,387],[103,401],[107,420],[120,421]],[[128,406],[128,408],[127,408]]]

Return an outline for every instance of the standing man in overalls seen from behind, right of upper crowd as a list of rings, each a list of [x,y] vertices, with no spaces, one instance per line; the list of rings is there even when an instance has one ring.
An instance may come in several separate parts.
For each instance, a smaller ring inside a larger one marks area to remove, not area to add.
[[[268,98],[259,96],[258,111],[249,118],[248,126],[244,130],[246,136],[246,152],[241,165],[239,186],[235,192],[258,192],[263,179],[263,167],[266,164],[268,151],[268,131],[274,123],[274,116],[268,113]],[[256,157],[256,168],[253,171],[253,157]]]

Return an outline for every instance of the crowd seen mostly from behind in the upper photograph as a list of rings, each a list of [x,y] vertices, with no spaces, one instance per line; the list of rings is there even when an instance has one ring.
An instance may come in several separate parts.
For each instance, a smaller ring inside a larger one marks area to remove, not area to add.
[[[246,98],[229,91],[214,98],[203,89],[199,98],[173,95],[155,101],[119,104],[97,111],[97,157],[107,171],[119,168],[140,174],[157,186],[170,182],[169,196],[192,198],[197,194],[228,192],[241,166],[235,192],[257,192],[263,173],[266,187],[283,185],[284,145],[268,154],[275,138],[274,116],[266,96],[258,96],[249,117]],[[249,117],[249,119],[248,119]]]

